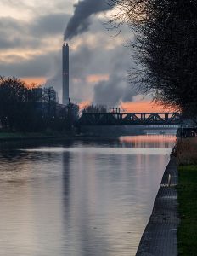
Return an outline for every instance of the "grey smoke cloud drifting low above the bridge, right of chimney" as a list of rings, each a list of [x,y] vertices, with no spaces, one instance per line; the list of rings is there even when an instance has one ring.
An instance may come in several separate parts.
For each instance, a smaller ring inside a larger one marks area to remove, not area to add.
[[[95,104],[108,105],[115,107],[121,102],[132,102],[133,97],[138,95],[137,88],[128,83],[127,70],[135,67],[135,63],[131,61],[130,55],[127,55],[127,49],[123,47],[115,47],[109,53],[103,53],[106,61],[108,55],[109,80],[100,81],[93,88],[93,102]]]

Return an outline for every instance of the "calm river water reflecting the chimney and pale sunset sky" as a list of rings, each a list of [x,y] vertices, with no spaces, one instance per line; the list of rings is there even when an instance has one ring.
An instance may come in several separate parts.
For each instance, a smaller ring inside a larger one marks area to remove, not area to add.
[[[4,143],[0,255],[135,255],[174,141]]]

